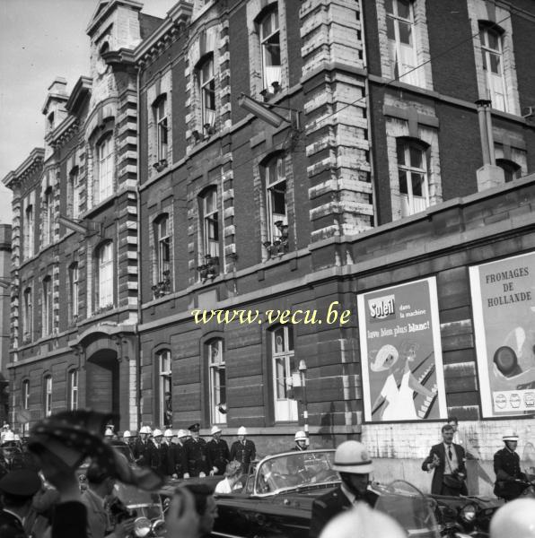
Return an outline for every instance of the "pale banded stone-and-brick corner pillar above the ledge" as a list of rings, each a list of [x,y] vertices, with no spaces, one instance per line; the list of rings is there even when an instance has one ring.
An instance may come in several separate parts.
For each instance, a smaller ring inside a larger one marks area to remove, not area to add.
[[[370,144],[358,0],[305,0],[300,18],[313,242],[373,226]]]

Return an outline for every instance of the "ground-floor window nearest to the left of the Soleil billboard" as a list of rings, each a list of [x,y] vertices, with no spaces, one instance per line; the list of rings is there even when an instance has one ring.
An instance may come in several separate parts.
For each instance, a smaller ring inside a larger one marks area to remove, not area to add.
[[[288,396],[288,379],[296,369],[294,364],[294,334],[292,328],[280,326],[271,334],[273,353],[273,392],[275,420],[297,421],[297,402]]]

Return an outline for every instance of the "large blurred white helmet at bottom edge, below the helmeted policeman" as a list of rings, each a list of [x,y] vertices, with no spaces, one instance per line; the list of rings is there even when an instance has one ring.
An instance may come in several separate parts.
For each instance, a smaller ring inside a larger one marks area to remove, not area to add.
[[[407,538],[399,523],[366,503],[359,502],[355,508],[342,512],[331,519],[321,531],[320,538]]]

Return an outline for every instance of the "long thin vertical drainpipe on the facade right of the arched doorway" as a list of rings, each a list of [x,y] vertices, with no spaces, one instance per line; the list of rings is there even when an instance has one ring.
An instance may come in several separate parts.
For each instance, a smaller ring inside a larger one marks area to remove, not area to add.
[[[137,430],[141,427],[141,337],[139,335],[139,325],[141,324],[141,195],[139,192],[139,152],[141,151],[141,136],[139,133],[140,116],[140,80],[141,69],[137,68],[136,74],[136,218],[137,218],[137,352],[136,352],[136,409],[137,409]]]

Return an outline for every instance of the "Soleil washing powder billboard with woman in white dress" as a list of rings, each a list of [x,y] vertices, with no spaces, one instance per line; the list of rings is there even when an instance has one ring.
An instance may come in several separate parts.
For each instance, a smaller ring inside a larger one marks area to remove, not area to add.
[[[447,417],[434,278],[357,297],[365,421]]]

